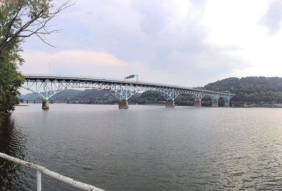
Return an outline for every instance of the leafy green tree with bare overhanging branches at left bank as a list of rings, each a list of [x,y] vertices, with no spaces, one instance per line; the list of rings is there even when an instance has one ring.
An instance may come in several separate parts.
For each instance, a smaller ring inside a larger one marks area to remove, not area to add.
[[[0,113],[14,110],[15,97],[24,78],[18,66],[24,62],[20,52],[26,37],[60,32],[47,25],[61,11],[71,6],[71,0],[57,6],[53,0],[0,0]]]

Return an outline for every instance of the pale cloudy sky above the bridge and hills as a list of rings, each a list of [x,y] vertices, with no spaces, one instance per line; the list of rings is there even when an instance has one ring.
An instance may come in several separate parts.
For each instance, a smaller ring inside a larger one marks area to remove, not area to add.
[[[19,69],[186,87],[282,77],[281,10],[281,0],[77,0],[50,23],[64,30],[43,36],[56,48],[26,38]]]

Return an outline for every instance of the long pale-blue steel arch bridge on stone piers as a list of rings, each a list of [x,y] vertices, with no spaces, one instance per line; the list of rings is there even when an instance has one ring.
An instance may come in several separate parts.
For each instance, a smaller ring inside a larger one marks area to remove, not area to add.
[[[205,96],[212,99],[212,106],[218,106],[219,98],[223,98],[225,106],[235,94],[216,92],[191,87],[173,86],[151,82],[134,82],[120,79],[93,78],[83,76],[62,76],[47,74],[24,74],[25,82],[23,88],[34,92],[42,101],[42,108],[49,109],[49,100],[56,93],[68,88],[96,88],[113,93],[120,101],[119,108],[128,108],[128,99],[138,91],[157,91],[166,100],[166,107],[175,107],[174,100],[180,94],[190,94],[194,99],[194,106],[200,107],[201,100]]]

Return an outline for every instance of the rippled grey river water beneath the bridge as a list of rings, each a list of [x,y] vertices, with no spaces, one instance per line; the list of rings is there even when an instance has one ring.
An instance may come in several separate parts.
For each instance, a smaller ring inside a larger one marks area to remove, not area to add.
[[[282,190],[281,108],[30,104],[0,123],[0,152],[106,191]],[[0,159],[0,190],[35,191],[36,172]]]

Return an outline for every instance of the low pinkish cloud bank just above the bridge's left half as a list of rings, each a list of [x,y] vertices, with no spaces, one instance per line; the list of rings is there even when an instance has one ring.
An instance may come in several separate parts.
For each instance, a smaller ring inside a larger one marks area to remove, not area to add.
[[[152,70],[141,61],[123,62],[106,52],[60,51],[56,53],[27,50],[23,53],[25,63],[22,73],[79,75],[123,79],[129,74],[139,74],[142,81],[174,83],[175,74],[169,71]]]

